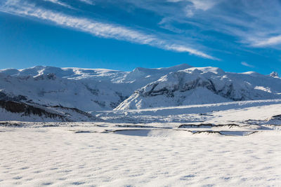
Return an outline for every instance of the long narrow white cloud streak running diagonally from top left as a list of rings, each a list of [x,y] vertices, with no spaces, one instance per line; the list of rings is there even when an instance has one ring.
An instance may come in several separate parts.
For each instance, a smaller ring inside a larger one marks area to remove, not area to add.
[[[15,3],[15,1],[18,3]],[[166,41],[153,34],[146,34],[128,27],[99,22],[93,19],[78,18],[66,15],[65,13],[57,13],[45,8],[39,8],[34,4],[27,4],[26,2],[22,3],[20,0],[8,0],[5,6],[0,7],[0,11],[47,20],[63,27],[70,27],[81,32],[93,34],[94,36],[146,44],[164,50],[173,50],[179,53],[189,53],[190,55],[218,60],[216,57],[207,55],[200,50],[196,50],[190,46],[183,46],[171,41]]]

